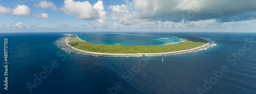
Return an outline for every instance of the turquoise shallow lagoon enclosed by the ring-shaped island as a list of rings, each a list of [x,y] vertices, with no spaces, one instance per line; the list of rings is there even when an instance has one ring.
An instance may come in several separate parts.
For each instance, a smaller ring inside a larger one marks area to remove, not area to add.
[[[125,45],[125,46],[156,46],[185,42],[175,36],[128,35],[110,33],[79,33],[78,37],[88,43],[96,45]]]

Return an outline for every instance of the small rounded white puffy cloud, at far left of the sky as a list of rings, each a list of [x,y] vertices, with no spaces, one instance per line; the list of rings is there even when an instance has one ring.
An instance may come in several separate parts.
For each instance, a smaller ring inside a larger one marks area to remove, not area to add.
[[[30,8],[25,5],[17,5],[16,8],[12,10],[13,15],[29,15],[30,14]]]

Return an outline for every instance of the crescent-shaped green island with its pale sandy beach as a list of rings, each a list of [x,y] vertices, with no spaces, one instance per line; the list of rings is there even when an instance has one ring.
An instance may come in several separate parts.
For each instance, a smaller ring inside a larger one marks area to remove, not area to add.
[[[69,47],[92,54],[106,55],[150,55],[150,54],[170,54],[191,51],[209,45],[209,41],[199,37],[177,36],[181,39],[186,39],[186,42],[181,42],[172,45],[159,46],[123,46],[123,45],[96,45],[87,43],[73,34],[65,34],[65,44]]]

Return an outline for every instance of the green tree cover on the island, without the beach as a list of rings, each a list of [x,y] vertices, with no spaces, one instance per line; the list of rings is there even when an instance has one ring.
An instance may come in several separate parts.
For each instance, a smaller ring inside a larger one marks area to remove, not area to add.
[[[164,53],[173,52],[186,49],[193,49],[199,46],[203,46],[208,43],[208,41],[197,38],[197,37],[179,37],[182,39],[187,39],[186,42],[181,42],[173,45],[161,45],[161,46],[122,46],[122,45],[95,45],[91,43],[81,42],[76,36],[70,37],[72,42],[68,44],[76,49],[98,52],[98,53]],[[73,41],[75,40],[75,41]],[[79,40],[79,41],[76,41]],[[68,40],[69,41],[69,40]]]

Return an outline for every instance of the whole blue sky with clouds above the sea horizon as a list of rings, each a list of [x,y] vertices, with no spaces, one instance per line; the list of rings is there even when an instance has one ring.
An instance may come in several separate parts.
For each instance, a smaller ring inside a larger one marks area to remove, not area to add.
[[[254,0],[0,1],[0,32],[256,32]]]

